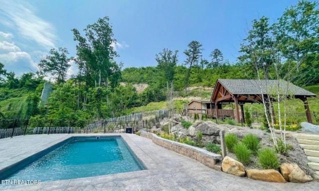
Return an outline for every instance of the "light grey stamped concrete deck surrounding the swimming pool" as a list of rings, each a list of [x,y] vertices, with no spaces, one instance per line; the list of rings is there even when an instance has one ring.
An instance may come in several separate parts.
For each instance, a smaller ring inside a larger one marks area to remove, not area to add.
[[[0,169],[72,136],[121,135],[147,170],[1,187],[8,191],[318,191],[319,182],[268,183],[210,169],[135,134],[52,134],[0,139]]]

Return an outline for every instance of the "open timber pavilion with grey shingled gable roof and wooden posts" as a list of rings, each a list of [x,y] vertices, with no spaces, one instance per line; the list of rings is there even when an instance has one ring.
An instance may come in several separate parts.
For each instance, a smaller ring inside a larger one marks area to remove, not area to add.
[[[235,120],[239,123],[239,106],[242,111],[242,119],[245,121],[243,109],[245,103],[263,103],[263,96],[269,111],[269,104],[275,101],[275,98],[271,97],[271,99],[268,99],[270,96],[267,95],[274,95],[277,94],[277,92],[285,92],[279,94],[301,99],[304,102],[307,121],[312,123],[307,98],[316,97],[317,95],[285,80],[218,79],[210,101],[215,104],[215,108],[217,108],[218,103],[234,102]],[[274,110],[269,112],[271,112],[273,116],[275,115]],[[218,112],[216,112],[216,114],[216,118],[218,118]]]

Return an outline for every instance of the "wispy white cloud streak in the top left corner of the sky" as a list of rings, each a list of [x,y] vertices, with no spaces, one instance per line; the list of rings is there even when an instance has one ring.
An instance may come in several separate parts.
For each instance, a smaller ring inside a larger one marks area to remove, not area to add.
[[[0,22],[17,30],[25,39],[51,49],[55,47],[57,36],[54,26],[39,18],[34,7],[25,1],[0,0]]]

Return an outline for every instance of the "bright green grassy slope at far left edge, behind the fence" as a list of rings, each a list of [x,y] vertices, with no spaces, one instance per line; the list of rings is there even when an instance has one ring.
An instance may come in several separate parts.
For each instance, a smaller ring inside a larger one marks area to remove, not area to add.
[[[0,101],[0,112],[5,118],[24,118],[27,97],[10,98]]]

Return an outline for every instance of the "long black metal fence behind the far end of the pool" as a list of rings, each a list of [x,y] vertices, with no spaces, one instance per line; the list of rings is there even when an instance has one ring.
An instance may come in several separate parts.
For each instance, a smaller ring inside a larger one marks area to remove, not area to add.
[[[60,134],[60,133],[136,133],[146,128],[158,126],[166,115],[150,120],[133,121],[72,121],[72,120],[0,120],[0,139],[18,135],[30,134]]]

